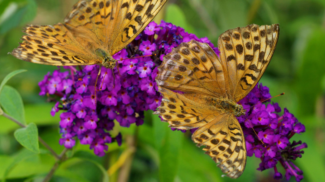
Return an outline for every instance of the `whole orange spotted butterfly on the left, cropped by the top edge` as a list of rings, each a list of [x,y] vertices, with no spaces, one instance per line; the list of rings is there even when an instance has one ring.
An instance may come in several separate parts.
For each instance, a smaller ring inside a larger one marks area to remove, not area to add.
[[[112,55],[127,46],[167,0],[79,0],[55,25],[29,25],[18,59],[56,66],[101,63],[113,69]]]

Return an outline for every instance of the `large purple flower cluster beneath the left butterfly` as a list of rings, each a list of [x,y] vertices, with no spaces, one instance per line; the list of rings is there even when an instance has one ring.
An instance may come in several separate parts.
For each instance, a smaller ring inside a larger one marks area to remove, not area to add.
[[[156,55],[118,61],[113,70],[102,67],[97,92],[95,81],[99,65],[64,66],[68,71],[61,72],[59,68],[52,74],[46,74],[44,80],[39,82],[40,95],[56,100],[51,111],[53,116],[63,110],[60,114],[62,138],[59,143],[71,148],[78,139],[81,144],[90,145],[98,156],[105,155],[107,143],[116,141],[121,145],[121,133],[115,137],[110,134],[116,124],[114,120],[122,127],[143,123],[143,111],[155,110],[162,99],[155,82],[157,66],[161,64],[162,57],[180,43],[192,39],[207,42],[218,53],[207,38],[198,39],[196,35],[171,23],[162,21],[157,25],[151,22],[113,58],[121,60]],[[99,91],[100,87],[102,89]]]

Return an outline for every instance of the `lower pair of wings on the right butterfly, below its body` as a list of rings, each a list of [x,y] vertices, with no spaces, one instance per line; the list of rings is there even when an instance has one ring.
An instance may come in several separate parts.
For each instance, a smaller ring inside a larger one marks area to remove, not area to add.
[[[230,112],[207,104],[202,94],[179,94],[158,86],[163,99],[154,114],[160,114],[169,127],[181,130],[198,128],[192,134],[197,146],[205,145],[222,172],[239,177],[246,165],[246,146],[238,120]]]

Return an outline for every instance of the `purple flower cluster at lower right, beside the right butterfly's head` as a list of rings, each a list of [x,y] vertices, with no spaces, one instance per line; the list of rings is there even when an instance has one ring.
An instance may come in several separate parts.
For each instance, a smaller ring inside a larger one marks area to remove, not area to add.
[[[295,176],[296,181],[300,181],[303,178],[303,172],[292,161],[302,156],[304,151],[301,149],[306,148],[307,144],[289,140],[295,133],[305,132],[305,126],[298,122],[286,108],[280,116],[281,108],[278,103],[267,105],[260,103],[270,97],[269,89],[260,84],[238,102],[247,110],[245,115],[237,117],[245,134],[247,156],[255,154],[255,157],[261,158],[262,162],[258,168],[260,171],[274,168],[274,179],[282,179],[282,174],[276,167],[280,163],[285,169],[286,180]]]

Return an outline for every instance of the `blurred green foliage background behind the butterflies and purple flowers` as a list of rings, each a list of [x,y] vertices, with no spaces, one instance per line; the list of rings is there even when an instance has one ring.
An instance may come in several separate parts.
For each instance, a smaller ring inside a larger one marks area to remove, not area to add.
[[[38,96],[37,83],[55,66],[28,63],[7,55],[18,46],[26,24],[52,25],[62,22],[77,0],[0,0],[0,80],[17,69],[26,69],[7,85],[16,88],[25,104],[27,123],[38,126],[39,135],[57,152],[59,114],[50,116],[53,103]],[[324,115],[325,115],[325,1],[324,0],[168,0],[154,19],[172,22],[198,37],[208,37],[215,45],[218,36],[248,24],[280,24],[279,42],[273,59],[260,82],[270,88],[281,108],[306,126],[306,132],[292,140],[308,144],[305,154],[294,163],[304,171],[303,181],[325,181]],[[233,181],[222,178],[221,170],[211,158],[195,146],[190,134],[171,131],[151,112],[140,127],[121,128],[123,145],[109,145],[104,157],[96,157],[87,146],[77,144],[68,154],[52,181],[102,181],[111,168],[110,181]],[[39,181],[55,159],[45,150],[33,154],[15,140],[18,125],[0,116],[0,178],[7,181]],[[292,141],[291,140],[291,141]],[[136,141],[136,142],[133,142]],[[133,145],[128,143],[136,143]],[[40,145],[41,149],[44,149]],[[131,151],[131,152],[130,152]],[[135,151],[135,153],[133,153]],[[130,154],[130,155],[127,155]],[[24,156],[24,157],[22,157]],[[256,170],[259,159],[248,157],[240,181],[272,181],[273,169]],[[104,168],[98,167],[103,166]],[[278,164],[279,166],[279,164]],[[280,170],[282,167],[278,167]],[[129,177],[129,179],[128,179]],[[128,179],[128,180],[127,180]],[[295,181],[292,177],[290,181]]]

